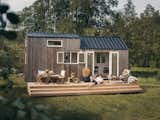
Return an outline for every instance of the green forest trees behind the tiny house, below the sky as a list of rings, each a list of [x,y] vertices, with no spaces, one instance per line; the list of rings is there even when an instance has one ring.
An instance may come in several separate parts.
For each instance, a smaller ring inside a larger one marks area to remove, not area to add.
[[[148,4],[138,14],[132,0],[122,10],[117,5],[118,0],[37,0],[17,13],[18,25],[9,25],[18,32],[16,40],[0,41],[0,66],[23,71],[25,34],[32,31],[119,36],[129,48],[130,66],[160,67],[159,11]]]

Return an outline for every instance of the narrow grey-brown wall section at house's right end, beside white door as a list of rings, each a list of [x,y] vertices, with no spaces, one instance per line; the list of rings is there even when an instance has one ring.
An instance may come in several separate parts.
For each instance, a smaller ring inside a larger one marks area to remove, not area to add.
[[[119,75],[125,68],[128,69],[128,50],[119,50]]]

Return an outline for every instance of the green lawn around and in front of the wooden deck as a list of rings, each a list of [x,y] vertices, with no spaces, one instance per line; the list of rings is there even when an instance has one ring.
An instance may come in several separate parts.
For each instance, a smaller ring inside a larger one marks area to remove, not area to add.
[[[15,75],[12,75],[11,78],[15,83],[16,96],[25,96],[35,104],[48,105],[49,115],[53,120],[160,119],[160,80],[154,77],[139,77],[139,84],[145,90],[145,93],[142,94],[35,98],[27,96],[26,84],[22,78]]]

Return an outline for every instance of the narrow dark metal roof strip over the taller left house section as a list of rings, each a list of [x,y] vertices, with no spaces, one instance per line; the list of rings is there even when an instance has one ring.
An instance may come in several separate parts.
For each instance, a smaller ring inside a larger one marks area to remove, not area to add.
[[[44,33],[44,32],[28,32],[28,37],[41,37],[41,38],[79,38],[76,34],[67,33]]]

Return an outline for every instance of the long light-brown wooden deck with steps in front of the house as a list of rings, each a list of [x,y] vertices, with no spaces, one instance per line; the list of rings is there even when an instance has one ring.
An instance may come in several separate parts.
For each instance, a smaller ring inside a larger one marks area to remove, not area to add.
[[[95,94],[122,94],[142,93],[143,89],[138,84],[122,84],[119,82],[104,83],[69,83],[69,84],[44,84],[27,83],[30,96],[69,96],[69,95],[95,95]]]

